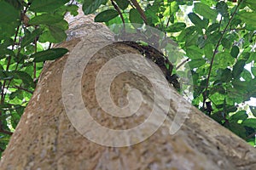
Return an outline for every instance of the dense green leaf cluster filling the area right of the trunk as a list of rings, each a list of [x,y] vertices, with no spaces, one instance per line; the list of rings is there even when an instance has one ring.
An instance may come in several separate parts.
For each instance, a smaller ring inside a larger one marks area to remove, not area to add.
[[[98,6],[90,13],[106,3],[94,2]],[[183,66],[187,71],[177,69],[180,65],[173,51],[163,50],[177,66],[175,73],[181,79],[190,74],[193,86],[184,83],[183,87],[192,92],[189,94],[192,104],[255,145],[255,100],[254,105],[239,106],[256,98],[254,0],[141,0],[136,1],[139,7],[133,0],[110,2],[96,15],[96,22],[108,26],[145,24],[164,32],[183,51]],[[160,39],[156,41],[161,48],[168,46]]]

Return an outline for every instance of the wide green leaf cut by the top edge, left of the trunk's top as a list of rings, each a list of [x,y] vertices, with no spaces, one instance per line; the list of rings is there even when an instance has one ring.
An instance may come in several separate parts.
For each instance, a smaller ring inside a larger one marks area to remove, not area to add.
[[[41,13],[41,12],[53,12],[56,8],[60,8],[69,0],[33,0],[30,6],[30,10]]]

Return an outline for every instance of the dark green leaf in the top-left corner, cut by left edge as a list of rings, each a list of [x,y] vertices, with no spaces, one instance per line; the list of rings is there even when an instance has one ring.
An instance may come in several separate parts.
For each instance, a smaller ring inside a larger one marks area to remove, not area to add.
[[[0,23],[12,23],[20,19],[19,10],[15,9],[9,3],[0,1]]]

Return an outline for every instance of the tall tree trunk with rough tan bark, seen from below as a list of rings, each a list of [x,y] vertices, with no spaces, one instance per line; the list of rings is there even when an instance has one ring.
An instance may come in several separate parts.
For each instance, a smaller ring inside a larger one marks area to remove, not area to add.
[[[114,56],[139,52],[122,43],[102,48],[90,59],[81,76],[81,85],[76,86],[80,75],[74,74],[72,81],[68,79],[70,77],[65,77],[69,75],[65,73],[68,65],[82,68],[79,63],[82,61],[74,56],[86,58],[89,54],[84,53],[91,53],[102,42],[111,42],[113,35],[107,27],[94,23],[92,16],[79,15],[74,19],[69,17],[68,20],[68,40],[57,47],[68,48],[70,53],[44,66],[38,87],[4,151],[0,169],[256,169],[256,150],[252,146],[192,107],[172,88],[164,89],[166,94],[171,95],[160,94],[165,100],[154,105],[154,98],[157,98],[155,89],[145,76],[138,73],[123,72],[113,78],[110,87],[115,105],[130,105],[133,98],[142,99],[137,114],[124,118],[109,116],[96,99],[96,93],[100,97],[106,94],[104,88],[95,91],[96,75]],[[70,55],[73,56],[73,63],[68,61]],[[118,72],[120,67],[125,67],[125,59],[120,60],[120,65],[110,71]],[[136,65],[137,60],[129,62]],[[155,77],[160,77],[155,70]],[[131,92],[133,88],[137,88],[140,94]],[[114,136],[106,133],[108,131],[97,131],[94,124],[84,120],[83,116],[79,119],[76,115],[81,110],[79,105],[72,102],[68,105],[69,99],[76,101],[80,97],[72,94],[78,89],[81,89],[84,106],[98,124],[118,130],[136,127],[136,130],[131,135],[125,133]],[[168,112],[165,112],[165,105],[162,106],[166,101],[170,102]],[[144,128],[137,128],[138,124],[151,116],[154,107],[158,112],[154,119],[148,121]],[[133,111],[137,108],[129,109]],[[188,115],[183,113],[188,110]],[[186,117],[180,116],[180,120],[173,121],[177,112]],[[162,117],[165,121],[159,127]],[[173,123],[183,120],[183,126],[171,135],[170,127],[174,127],[175,131],[174,125],[179,126]],[[88,130],[90,126],[92,129]],[[143,140],[147,135],[148,139]],[[97,144],[97,141],[102,143]]]

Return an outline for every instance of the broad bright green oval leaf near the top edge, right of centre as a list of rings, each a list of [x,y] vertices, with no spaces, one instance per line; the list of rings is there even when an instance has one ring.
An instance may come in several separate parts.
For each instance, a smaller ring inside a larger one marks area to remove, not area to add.
[[[195,12],[200,14],[204,18],[215,20],[217,17],[216,10],[210,8],[208,5],[204,3],[195,3]]]

